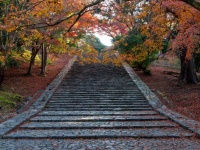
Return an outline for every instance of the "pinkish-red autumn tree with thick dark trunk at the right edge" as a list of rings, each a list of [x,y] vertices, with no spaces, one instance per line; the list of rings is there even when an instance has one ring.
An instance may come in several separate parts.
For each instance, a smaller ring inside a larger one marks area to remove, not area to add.
[[[184,83],[198,83],[194,54],[198,53],[200,41],[200,11],[183,2],[169,1],[163,3],[163,5],[177,22],[176,26],[173,27],[176,34],[171,32],[171,47],[180,54],[181,72],[179,80]]]

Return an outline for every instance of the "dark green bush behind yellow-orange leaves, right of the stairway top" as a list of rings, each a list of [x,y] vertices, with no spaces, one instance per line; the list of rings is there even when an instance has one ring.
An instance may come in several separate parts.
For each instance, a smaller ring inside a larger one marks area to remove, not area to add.
[[[132,60],[128,60],[132,67],[142,70],[144,74],[149,75],[150,70],[148,70],[148,67],[157,58],[158,50],[156,48],[154,50],[148,49],[144,44],[146,38],[139,30],[133,29],[126,37],[116,36],[114,42],[117,43],[115,48],[121,54],[131,54],[133,56]],[[167,44],[164,44],[167,47]]]

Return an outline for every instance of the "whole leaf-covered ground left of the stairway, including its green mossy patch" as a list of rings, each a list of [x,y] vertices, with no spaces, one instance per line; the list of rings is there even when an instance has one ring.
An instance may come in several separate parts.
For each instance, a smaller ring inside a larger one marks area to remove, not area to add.
[[[47,66],[45,77],[38,76],[39,64],[34,66],[33,76],[25,75],[29,65],[27,62],[21,62],[19,67],[7,69],[0,91],[0,122],[16,115],[17,110],[27,109],[34,103],[68,60],[67,55],[54,56],[52,64]]]

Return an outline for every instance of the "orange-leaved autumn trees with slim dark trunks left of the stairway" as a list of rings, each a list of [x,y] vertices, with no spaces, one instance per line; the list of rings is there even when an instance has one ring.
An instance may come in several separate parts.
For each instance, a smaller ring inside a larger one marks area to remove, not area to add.
[[[51,38],[55,37],[54,32],[57,34],[57,31],[59,31],[59,37],[66,40],[71,39],[73,34],[86,33],[87,28],[89,26],[91,28],[91,23],[94,23],[94,17],[91,15],[91,12],[95,10],[93,6],[102,1],[0,1],[1,6],[3,6],[0,10],[1,70],[4,70],[3,61],[6,60],[7,54],[18,44],[16,41],[20,37],[20,41],[22,41],[20,46],[31,47],[32,51],[27,74],[31,75],[35,56],[40,50],[43,54],[40,74],[44,74],[46,48],[51,44]],[[74,27],[78,30],[73,30]],[[3,74],[2,71],[2,80]]]

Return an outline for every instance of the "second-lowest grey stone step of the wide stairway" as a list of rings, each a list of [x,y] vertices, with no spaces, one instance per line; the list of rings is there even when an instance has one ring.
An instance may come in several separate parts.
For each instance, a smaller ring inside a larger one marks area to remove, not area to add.
[[[132,122],[29,122],[21,129],[94,129],[94,128],[163,128],[177,127],[170,121],[132,121]]]

